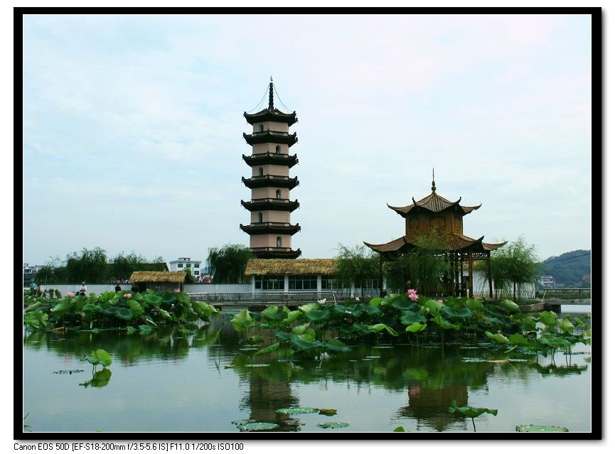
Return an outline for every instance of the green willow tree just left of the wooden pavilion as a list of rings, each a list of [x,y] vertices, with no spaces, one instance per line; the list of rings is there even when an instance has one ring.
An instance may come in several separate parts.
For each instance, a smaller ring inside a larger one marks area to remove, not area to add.
[[[363,298],[365,281],[374,279],[379,274],[378,253],[368,250],[365,246],[346,247],[338,244],[337,259],[336,276],[345,286],[360,287]]]

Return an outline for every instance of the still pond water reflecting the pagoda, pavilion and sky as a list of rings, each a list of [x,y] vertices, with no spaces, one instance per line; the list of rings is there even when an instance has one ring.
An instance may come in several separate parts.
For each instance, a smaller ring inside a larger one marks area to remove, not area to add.
[[[470,419],[447,413],[456,400],[498,409],[475,419],[479,432],[530,423],[591,430],[589,345],[577,345],[568,360],[555,355],[555,364],[484,347],[357,342],[322,361],[292,360],[282,349],[254,357],[224,315],[194,335],[25,333],[25,423],[35,432],[236,433],[232,421],[242,419],[277,423],[277,431],[473,431]],[[92,377],[81,358],[99,348],[112,356],[111,373]],[[515,362],[493,362],[506,358]],[[54,373],[69,370],[82,372]],[[276,412],[291,406],[336,414]],[[349,426],[317,426],[331,422]]]

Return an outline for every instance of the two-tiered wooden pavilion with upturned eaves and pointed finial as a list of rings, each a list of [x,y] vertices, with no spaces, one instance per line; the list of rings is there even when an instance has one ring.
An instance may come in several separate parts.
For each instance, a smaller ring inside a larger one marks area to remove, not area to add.
[[[474,297],[473,269],[475,260],[487,261],[487,274],[489,282],[489,298],[493,298],[493,283],[491,278],[491,251],[502,247],[506,242],[489,244],[483,242],[484,235],[478,239],[464,235],[464,216],[481,205],[463,206],[461,197],[455,202],[446,200],[436,193],[436,183],[432,175],[432,193],[421,200],[412,198],[412,204],[405,207],[387,206],[403,217],[406,222],[406,234],[384,244],[371,244],[363,242],[380,254],[380,287],[382,288],[383,260],[395,259],[401,254],[410,252],[419,247],[419,238],[430,232],[436,232],[442,238],[439,249],[449,259],[453,270],[452,279],[445,283],[445,293],[453,296],[466,295]],[[467,266],[467,280],[464,279],[463,269]],[[382,293],[382,291],[381,291]]]

